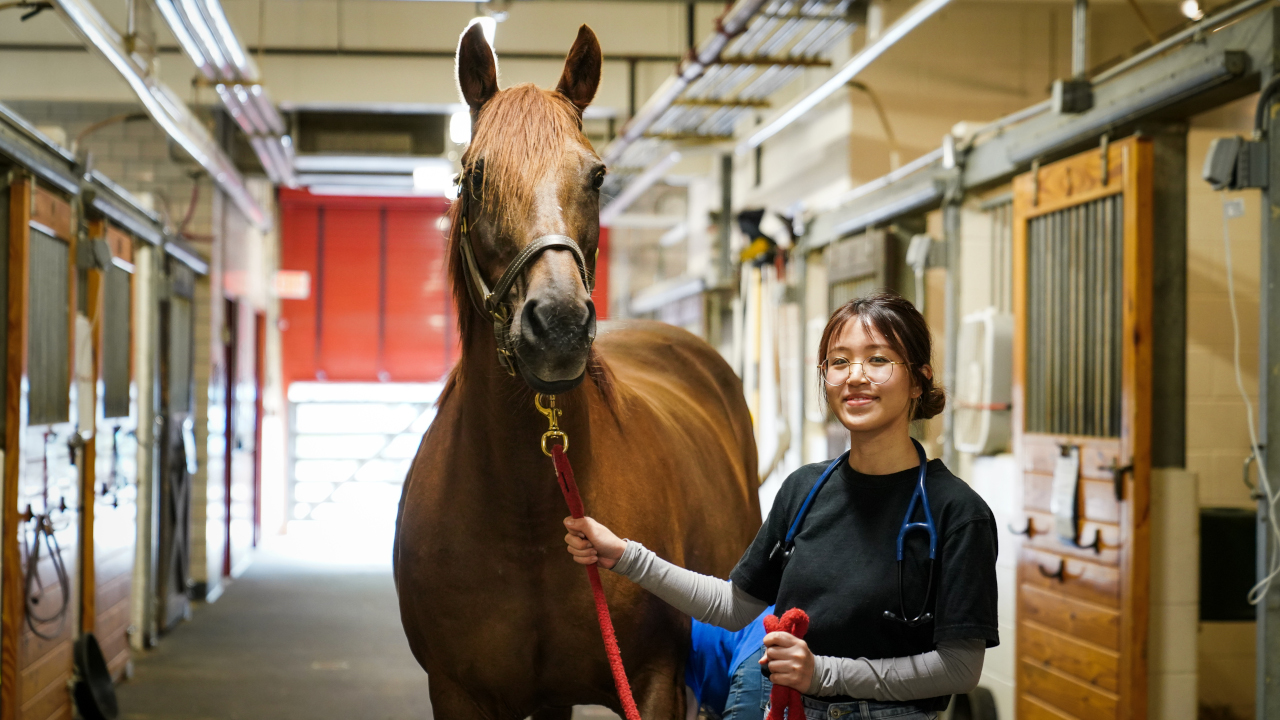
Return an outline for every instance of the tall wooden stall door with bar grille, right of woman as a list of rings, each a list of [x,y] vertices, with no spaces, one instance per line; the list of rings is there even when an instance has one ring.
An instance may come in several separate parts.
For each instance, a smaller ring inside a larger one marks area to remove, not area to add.
[[[1023,720],[1147,716],[1152,149],[1103,147],[1014,182]]]

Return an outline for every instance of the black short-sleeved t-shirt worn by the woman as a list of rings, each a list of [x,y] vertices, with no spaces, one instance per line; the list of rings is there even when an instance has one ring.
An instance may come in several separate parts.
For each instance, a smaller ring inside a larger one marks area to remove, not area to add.
[[[968,484],[931,460],[925,492],[937,528],[937,560],[928,611],[933,621],[916,628],[884,618],[901,616],[896,541],[919,469],[864,475],[845,462],[814,497],[783,568],[773,546],[829,462],[805,465],[782,483],[773,509],[730,579],[753,597],[777,605],[777,615],[799,607],[809,615],[805,642],[814,655],[835,657],[904,657],[937,650],[937,643],[983,639],[1000,643],[996,626],[996,519]],[[913,521],[923,523],[916,503]],[[906,614],[924,602],[928,534],[911,530],[904,546],[902,587]],[[838,702],[869,698],[829,698]],[[922,710],[942,710],[950,698],[915,700]]]

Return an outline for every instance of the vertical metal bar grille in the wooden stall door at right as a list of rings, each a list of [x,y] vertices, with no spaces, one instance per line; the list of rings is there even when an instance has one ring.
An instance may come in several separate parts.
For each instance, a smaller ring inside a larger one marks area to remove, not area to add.
[[[1027,432],[1120,436],[1124,196],[1027,224]]]

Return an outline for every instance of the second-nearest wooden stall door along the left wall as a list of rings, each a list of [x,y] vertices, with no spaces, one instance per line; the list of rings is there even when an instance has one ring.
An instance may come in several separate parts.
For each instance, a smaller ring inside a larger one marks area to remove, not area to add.
[[[137,544],[137,407],[133,393],[133,238],[104,222],[111,265],[88,272],[86,313],[93,328],[93,425],[84,459],[84,562],[81,629],[92,632],[108,669],[129,662],[133,556]],[[92,498],[92,502],[90,502]]]

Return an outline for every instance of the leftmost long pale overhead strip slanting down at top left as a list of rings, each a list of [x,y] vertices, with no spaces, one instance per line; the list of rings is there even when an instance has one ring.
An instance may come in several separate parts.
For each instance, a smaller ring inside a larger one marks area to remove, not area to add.
[[[230,158],[214,142],[200,119],[172,90],[155,78],[143,76],[143,69],[125,50],[120,33],[106,22],[97,8],[90,0],[54,0],[54,4],[83,41],[101,53],[106,61],[129,83],[129,88],[137,95],[143,109],[164,129],[165,135],[182,146],[209,173],[250,222],[264,231],[270,229],[266,211],[244,187],[244,178],[236,169]]]

